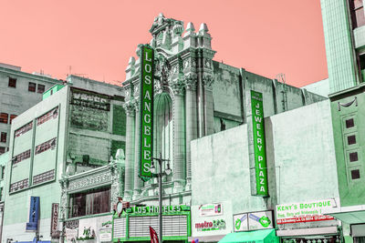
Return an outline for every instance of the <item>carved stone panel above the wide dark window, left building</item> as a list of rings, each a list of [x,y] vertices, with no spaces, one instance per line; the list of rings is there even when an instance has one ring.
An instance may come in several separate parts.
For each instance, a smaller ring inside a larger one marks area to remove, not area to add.
[[[112,175],[110,171],[103,172],[97,175],[90,175],[89,177],[83,177],[69,181],[68,191],[75,191],[78,189],[84,189],[89,187],[99,187],[101,184],[105,184],[112,181]]]

